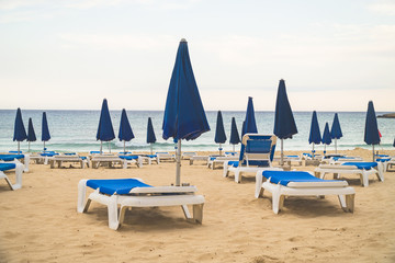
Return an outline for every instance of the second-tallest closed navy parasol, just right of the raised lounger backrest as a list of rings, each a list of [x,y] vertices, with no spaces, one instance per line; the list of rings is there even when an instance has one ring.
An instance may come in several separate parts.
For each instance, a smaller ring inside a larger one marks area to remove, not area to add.
[[[279,83],[278,96],[275,102],[275,115],[274,115],[274,135],[281,139],[281,161],[284,163],[283,153],[283,139],[292,139],[292,136],[297,134],[295,119],[292,113],[292,108],[286,95],[285,81],[282,79]]]

